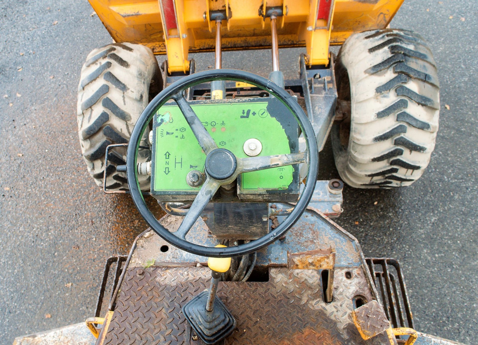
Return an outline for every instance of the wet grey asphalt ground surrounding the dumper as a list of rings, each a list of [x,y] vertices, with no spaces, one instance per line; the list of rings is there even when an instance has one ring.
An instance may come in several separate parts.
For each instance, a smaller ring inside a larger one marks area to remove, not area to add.
[[[0,0],[1,344],[92,316],[106,258],[146,228],[81,159],[80,69],[111,42],[92,12],[86,0]],[[401,262],[418,330],[468,344],[478,343],[477,14],[472,0],[405,1],[391,27],[421,33],[439,67],[435,152],[412,187],[346,187],[337,220],[366,256]],[[298,76],[302,51],[280,51],[286,77]],[[193,57],[199,70],[213,65],[211,54]],[[223,67],[267,75],[270,51],[225,52]],[[337,178],[330,144],[320,158],[322,178]]]

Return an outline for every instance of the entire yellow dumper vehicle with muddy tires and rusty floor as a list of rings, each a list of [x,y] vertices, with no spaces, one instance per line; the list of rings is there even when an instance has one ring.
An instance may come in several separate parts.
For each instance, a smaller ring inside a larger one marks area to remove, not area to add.
[[[399,263],[331,220],[342,180],[411,185],[435,147],[435,61],[388,27],[401,0],[90,3],[115,42],[82,68],[83,158],[150,227],[107,260],[86,325],[15,344],[456,344],[416,331]],[[223,50],[264,48],[268,78],[221,68]],[[212,50],[197,72],[188,53]],[[341,180],[317,180],[329,134]]]

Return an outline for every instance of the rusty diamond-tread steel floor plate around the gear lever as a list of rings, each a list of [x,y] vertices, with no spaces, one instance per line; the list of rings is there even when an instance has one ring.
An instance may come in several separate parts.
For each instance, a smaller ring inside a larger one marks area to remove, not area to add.
[[[128,268],[97,344],[200,345],[181,308],[210,279],[207,267]],[[218,296],[237,321],[223,344],[390,344],[386,334],[365,342],[352,321],[354,297],[371,300],[361,268],[336,267],[331,303],[318,270],[286,267],[269,268],[266,282],[220,282]]]

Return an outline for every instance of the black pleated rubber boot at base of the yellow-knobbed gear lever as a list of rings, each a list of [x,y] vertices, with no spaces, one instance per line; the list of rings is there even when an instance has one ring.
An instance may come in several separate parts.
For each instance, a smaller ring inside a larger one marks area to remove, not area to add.
[[[213,310],[206,310],[209,290],[204,290],[183,307],[183,314],[205,344],[216,344],[236,328],[236,320],[222,300],[214,300]]]

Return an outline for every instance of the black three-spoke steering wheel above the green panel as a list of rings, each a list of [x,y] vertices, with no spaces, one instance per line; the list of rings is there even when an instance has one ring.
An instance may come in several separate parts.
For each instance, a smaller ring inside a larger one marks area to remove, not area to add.
[[[247,82],[269,92],[277,99],[281,100],[282,103],[293,113],[297,122],[299,123],[304,134],[307,150],[300,153],[276,156],[237,158],[229,150],[218,148],[214,140],[211,138],[211,135],[206,131],[206,128],[196,116],[196,113],[193,111],[183,95],[185,89],[213,80],[234,80]],[[187,212],[183,223],[181,223],[179,229],[174,233],[164,228],[146,206],[143,195],[139,188],[136,168],[136,158],[138,155],[138,147],[140,145],[141,137],[143,136],[148,123],[152,120],[156,111],[170,99],[176,101],[179,109],[183,112],[186,121],[196,136],[199,145],[201,145],[206,154],[206,181],[204,182],[196,196],[196,199]],[[308,164],[308,178],[305,182],[304,190],[291,214],[276,229],[272,230],[272,232],[249,243],[226,248],[213,248],[203,245],[196,245],[194,243],[188,242],[185,239],[186,234],[189,232],[209,200],[211,200],[221,185],[231,183],[238,177],[239,174],[244,172],[268,169],[271,167],[281,167],[297,163]],[[170,244],[196,255],[211,257],[246,255],[257,251],[282,237],[297,221],[307,207],[307,204],[309,203],[314,192],[315,182],[317,179],[317,170],[318,150],[317,143],[315,141],[314,129],[312,128],[312,125],[301,106],[297,103],[297,100],[295,100],[287,91],[279,87],[271,80],[250,72],[236,69],[215,69],[197,72],[187,77],[181,78],[174,84],[171,84],[167,88],[163,89],[163,91],[154,97],[146,109],[144,109],[144,111],[141,113],[141,116],[136,122],[136,125],[131,133],[130,144],[128,145],[128,152],[126,155],[126,173],[131,197],[133,198],[136,208],[141,213],[141,216],[144,218],[146,223],[148,223],[148,225],[158,235],[160,235]]]

